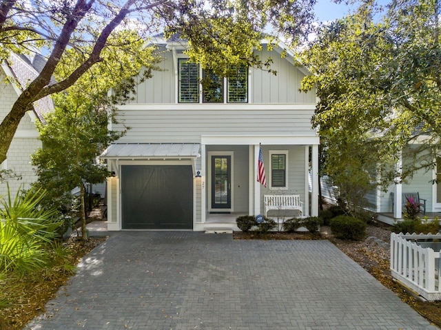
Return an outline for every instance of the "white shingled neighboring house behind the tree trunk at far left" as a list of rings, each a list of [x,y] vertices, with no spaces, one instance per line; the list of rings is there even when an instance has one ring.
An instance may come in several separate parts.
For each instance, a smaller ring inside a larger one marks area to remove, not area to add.
[[[0,69],[0,121],[10,112],[12,105],[17,101],[23,87],[38,76],[45,61],[43,56],[34,55],[32,58],[23,55],[11,54],[8,61],[1,63]],[[8,82],[6,81],[8,79]],[[43,116],[51,112],[54,105],[50,97],[45,97],[34,103],[33,111],[28,112],[21,119],[17,132],[14,135],[8,150],[6,161],[1,163],[1,169],[11,169],[21,176],[21,180],[11,179],[9,187],[12,194],[16,194],[19,187],[29,189],[30,184],[37,180],[34,168],[30,164],[30,155],[41,147],[36,121],[43,121]],[[0,183],[0,196],[6,194],[6,183]]]

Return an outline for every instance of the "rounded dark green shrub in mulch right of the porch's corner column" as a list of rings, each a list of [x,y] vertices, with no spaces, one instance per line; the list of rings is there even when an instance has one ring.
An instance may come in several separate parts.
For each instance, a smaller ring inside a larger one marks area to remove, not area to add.
[[[367,224],[352,216],[336,216],[331,220],[331,231],[343,240],[362,240],[366,236]]]

